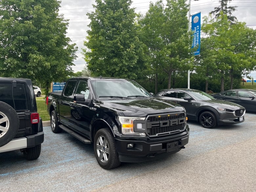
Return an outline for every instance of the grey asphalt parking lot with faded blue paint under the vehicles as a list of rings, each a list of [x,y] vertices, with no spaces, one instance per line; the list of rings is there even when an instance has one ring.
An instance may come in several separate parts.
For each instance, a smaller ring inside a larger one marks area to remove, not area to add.
[[[255,192],[256,113],[245,122],[205,129],[188,121],[185,149],[161,160],[122,163],[104,170],[86,145],[44,127],[45,140],[37,160],[19,151],[0,154],[0,190],[53,191],[174,191]]]

